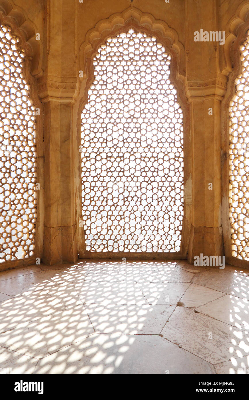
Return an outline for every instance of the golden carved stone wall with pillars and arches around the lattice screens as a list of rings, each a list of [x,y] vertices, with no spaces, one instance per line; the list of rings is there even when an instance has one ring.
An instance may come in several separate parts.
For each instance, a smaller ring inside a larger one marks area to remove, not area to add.
[[[84,257],[81,218],[81,112],[93,80],[93,58],[108,37],[128,27],[153,35],[171,55],[170,78],[184,124],[184,220],[181,258],[231,257],[228,220],[228,103],[239,72],[239,44],[249,29],[241,0],[0,0],[1,22],[26,52],[24,72],[37,118],[40,192],[32,263]],[[194,32],[225,32],[224,44]],[[210,112],[210,109],[212,110]],[[210,185],[212,184],[212,190]]]

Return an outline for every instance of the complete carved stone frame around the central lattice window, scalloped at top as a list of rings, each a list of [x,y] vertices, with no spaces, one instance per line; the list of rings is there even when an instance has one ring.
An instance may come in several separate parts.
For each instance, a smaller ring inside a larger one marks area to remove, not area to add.
[[[81,112],[88,99],[88,90],[94,80],[93,58],[101,45],[107,38],[115,37],[121,32],[127,32],[130,28],[140,31],[147,36],[154,36],[157,41],[165,47],[165,51],[171,55],[170,80],[177,90],[177,101],[183,110],[183,151],[184,151],[184,217],[181,237],[181,251],[177,253],[109,253],[93,252],[89,254],[85,250],[84,230],[76,224],[76,234],[78,242],[79,258],[117,258],[125,256],[128,259],[152,259],[161,260],[187,258],[187,248],[189,243],[190,216],[191,216],[191,154],[190,154],[190,104],[187,102],[185,94],[185,49],[179,42],[178,34],[170,28],[166,22],[155,20],[151,14],[143,14],[140,10],[129,8],[122,14],[113,14],[107,20],[101,20],[94,28],[86,34],[85,41],[79,48],[79,70],[83,72],[83,77],[78,78],[78,93],[75,107],[75,154],[78,153],[75,165],[76,176],[76,220],[81,219],[81,156],[79,152],[81,136]]]

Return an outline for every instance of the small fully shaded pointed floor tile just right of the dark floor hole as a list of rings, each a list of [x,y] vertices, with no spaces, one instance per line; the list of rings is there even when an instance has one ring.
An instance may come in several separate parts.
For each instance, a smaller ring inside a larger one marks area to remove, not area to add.
[[[224,293],[191,283],[189,288],[187,288],[186,292],[183,294],[181,303],[184,304],[184,307],[196,308],[221,296],[224,296]]]

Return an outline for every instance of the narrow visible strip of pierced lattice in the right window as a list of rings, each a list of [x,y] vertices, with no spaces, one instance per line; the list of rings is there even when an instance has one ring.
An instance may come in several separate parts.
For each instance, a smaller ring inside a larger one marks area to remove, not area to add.
[[[241,46],[241,74],[229,108],[229,216],[232,256],[249,260],[249,38]]]

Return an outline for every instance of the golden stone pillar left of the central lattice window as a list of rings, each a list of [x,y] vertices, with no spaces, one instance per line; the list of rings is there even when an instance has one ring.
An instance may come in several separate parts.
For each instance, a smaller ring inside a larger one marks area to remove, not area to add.
[[[74,201],[73,104],[76,91],[74,0],[51,0],[47,62],[38,81],[44,103],[45,227],[43,262],[78,258]],[[50,56],[51,54],[51,56]]]

